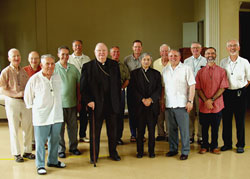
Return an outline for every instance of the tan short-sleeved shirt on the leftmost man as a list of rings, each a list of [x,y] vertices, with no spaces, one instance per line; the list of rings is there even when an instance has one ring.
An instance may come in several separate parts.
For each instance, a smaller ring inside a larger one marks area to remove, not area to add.
[[[0,76],[0,87],[6,96],[19,98],[23,97],[20,92],[24,91],[29,76],[26,71],[18,67],[16,70],[11,64],[3,69]]]

